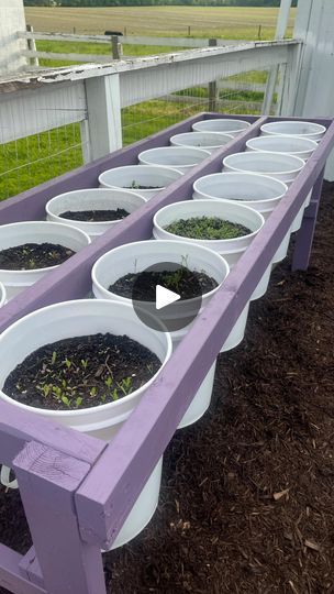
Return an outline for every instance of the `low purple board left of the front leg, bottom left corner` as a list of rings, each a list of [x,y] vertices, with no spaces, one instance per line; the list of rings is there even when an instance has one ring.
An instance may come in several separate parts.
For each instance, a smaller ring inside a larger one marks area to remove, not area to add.
[[[0,584],[14,594],[47,594],[20,574],[21,554],[0,543]]]

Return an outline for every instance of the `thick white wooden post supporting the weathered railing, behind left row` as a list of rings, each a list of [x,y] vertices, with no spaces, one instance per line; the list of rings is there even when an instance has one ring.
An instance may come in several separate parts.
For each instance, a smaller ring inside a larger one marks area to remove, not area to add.
[[[86,162],[122,147],[120,77],[118,74],[87,78],[87,122],[81,124]]]

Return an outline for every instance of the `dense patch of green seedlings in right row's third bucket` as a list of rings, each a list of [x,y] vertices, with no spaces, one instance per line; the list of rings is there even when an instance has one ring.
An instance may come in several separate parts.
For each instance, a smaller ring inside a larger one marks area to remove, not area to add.
[[[226,221],[219,217],[179,219],[165,227],[165,230],[182,238],[201,240],[235,239],[252,233],[250,229],[243,224]]]

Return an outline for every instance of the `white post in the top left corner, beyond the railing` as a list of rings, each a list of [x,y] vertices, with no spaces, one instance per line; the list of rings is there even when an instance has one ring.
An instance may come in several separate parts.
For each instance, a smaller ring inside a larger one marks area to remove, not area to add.
[[[0,0],[0,74],[26,67],[26,58],[23,56],[26,41],[18,36],[22,31],[25,31],[23,0]]]

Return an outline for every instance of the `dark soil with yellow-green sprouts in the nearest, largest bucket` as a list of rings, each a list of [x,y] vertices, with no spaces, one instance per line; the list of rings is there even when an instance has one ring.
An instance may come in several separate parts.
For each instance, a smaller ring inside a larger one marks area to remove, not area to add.
[[[3,392],[32,407],[91,408],[131,394],[160,364],[154,353],[126,336],[70,338],[29,355],[7,377]]]

